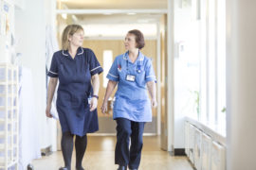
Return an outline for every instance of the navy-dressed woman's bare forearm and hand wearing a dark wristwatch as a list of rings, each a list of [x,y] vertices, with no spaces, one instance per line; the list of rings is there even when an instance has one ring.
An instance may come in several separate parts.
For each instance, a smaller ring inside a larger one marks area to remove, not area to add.
[[[93,87],[93,95],[98,96],[99,89],[100,89],[100,77],[98,74],[95,74],[94,76],[92,76],[91,80],[92,80],[92,87]],[[97,106],[98,106],[98,98],[92,97],[91,103],[90,103],[90,111],[95,110]]]

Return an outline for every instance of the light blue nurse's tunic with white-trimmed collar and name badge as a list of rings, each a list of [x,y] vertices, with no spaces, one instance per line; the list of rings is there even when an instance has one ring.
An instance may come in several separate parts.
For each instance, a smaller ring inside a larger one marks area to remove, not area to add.
[[[127,75],[135,76],[135,81],[126,80]],[[119,55],[113,62],[107,78],[118,81],[115,94],[113,118],[126,118],[136,122],[151,122],[152,109],[146,83],[155,81],[151,59],[138,53],[133,63],[129,54]]]

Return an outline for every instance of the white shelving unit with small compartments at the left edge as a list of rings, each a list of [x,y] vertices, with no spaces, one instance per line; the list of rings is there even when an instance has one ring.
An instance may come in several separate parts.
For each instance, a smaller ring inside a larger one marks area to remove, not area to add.
[[[18,68],[0,63],[0,170],[18,169]]]

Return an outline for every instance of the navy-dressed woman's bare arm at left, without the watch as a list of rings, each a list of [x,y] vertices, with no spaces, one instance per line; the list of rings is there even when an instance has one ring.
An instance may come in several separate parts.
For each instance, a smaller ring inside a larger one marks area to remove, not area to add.
[[[48,84],[48,91],[47,91],[47,106],[46,106],[46,116],[50,118],[52,117],[52,115],[50,114],[51,102],[57,86],[57,82],[58,82],[58,77],[50,77],[49,84]]]

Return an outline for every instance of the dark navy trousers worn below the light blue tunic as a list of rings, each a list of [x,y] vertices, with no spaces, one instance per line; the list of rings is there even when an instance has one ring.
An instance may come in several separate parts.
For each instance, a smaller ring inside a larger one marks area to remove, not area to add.
[[[115,163],[122,166],[128,165],[130,169],[137,169],[141,158],[145,123],[134,122],[125,118],[118,118],[116,121]]]

